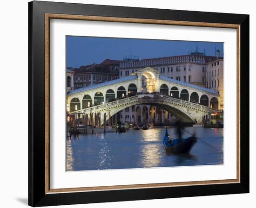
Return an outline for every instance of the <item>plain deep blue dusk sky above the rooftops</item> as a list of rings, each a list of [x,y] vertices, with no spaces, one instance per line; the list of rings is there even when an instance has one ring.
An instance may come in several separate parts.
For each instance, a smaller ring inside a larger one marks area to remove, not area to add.
[[[122,60],[124,56],[138,56],[139,59],[187,55],[195,51],[206,56],[215,56],[220,50],[223,56],[223,43],[174,40],[149,40],[131,38],[95,38],[67,36],[67,67],[80,67],[101,63],[105,59]]]

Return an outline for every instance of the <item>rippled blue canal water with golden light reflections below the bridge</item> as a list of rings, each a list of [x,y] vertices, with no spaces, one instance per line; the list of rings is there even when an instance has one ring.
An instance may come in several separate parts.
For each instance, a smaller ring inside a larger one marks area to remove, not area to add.
[[[163,148],[165,128],[129,130],[126,133],[80,134],[67,138],[67,171],[153,168],[223,164],[223,129],[186,127],[198,140],[189,154],[167,155]],[[177,138],[175,127],[168,128]],[[185,132],[183,138],[189,137]]]

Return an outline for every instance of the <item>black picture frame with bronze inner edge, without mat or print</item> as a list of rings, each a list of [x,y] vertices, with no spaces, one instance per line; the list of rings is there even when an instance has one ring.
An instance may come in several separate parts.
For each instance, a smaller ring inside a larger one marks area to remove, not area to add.
[[[237,32],[237,112],[235,113],[237,178],[50,189],[50,19],[235,28]],[[28,26],[28,204],[30,206],[249,193],[249,15],[32,1],[28,3]]]

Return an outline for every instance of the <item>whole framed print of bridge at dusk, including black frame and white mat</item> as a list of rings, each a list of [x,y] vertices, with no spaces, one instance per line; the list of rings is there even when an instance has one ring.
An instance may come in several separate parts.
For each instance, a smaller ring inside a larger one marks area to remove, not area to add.
[[[249,15],[28,8],[30,206],[249,192]]]

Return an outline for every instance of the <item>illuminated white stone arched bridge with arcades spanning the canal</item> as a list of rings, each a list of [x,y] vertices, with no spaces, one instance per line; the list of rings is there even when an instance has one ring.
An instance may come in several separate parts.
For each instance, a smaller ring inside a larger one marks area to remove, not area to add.
[[[192,123],[219,112],[219,99],[212,89],[160,76],[147,67],[127,77],[71,91],[67,112],[84,118],[87,124],[102,125],[104,115],[108,120],[127,107],[146,104]]]

